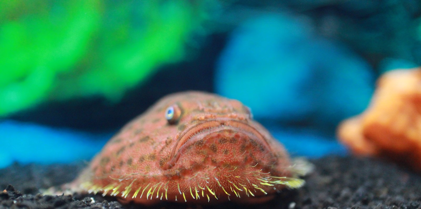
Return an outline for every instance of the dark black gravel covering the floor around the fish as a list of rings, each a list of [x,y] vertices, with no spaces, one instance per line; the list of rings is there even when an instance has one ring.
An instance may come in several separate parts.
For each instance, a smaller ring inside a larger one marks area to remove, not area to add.
[[[254,206],[233,203],[198,206],[163,203],[158,208],[421,208],[421,175],[373,159],[325,157],[312,160],[315,172],[304,188]],[[142,208],[100,195],[42,196],[39,188],[68,182],[84,164],[12,165],[0,170],[0,208]],[[11,185],[13,186],[11,186]]]

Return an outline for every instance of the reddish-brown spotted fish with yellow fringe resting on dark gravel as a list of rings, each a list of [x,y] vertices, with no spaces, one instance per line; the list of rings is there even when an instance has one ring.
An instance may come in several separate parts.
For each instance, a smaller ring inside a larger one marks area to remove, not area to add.
[[[170,106],[180,115],[172,124]],[[160,99],[125,125],[71,185],[141,204],[253,203],[301,186],[298,173],[248,107],[191,91]]]

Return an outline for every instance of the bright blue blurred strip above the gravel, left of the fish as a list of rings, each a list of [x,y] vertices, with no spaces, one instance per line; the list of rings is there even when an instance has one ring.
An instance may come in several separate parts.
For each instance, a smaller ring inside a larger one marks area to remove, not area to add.
[[[48,164],[89,160],[112,136],[112,133],[84,133],[13,120],[0,122],[0,133],[0,168],[13,162]]]

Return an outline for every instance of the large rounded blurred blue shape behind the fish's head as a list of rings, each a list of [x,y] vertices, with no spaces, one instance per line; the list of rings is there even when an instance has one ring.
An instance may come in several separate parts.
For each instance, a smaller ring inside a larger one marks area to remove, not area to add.
[[[334,129],[367,107],[373,69],[344,44],[288,16],[266,15],[236,29],[221,54],[216,91],[251,107],[258,120]]]

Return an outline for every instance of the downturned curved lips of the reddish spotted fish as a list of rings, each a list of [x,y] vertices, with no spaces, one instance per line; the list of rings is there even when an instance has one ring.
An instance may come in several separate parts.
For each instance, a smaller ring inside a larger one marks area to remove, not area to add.
[[[174,167],[177,160],[180,158],[181,153],[190,145],[213,133],[221,131],[231,131],[243,135],[246,134],[250,138],[253,138],[253,140],[258,144],[263,146],[264,149],[271,150],[267,139],[256,128],[248,123],[238,120],[209,120],[192,126],[180,134],[171,151],[170,159],[163,165],[163,169],[168,170]]]

